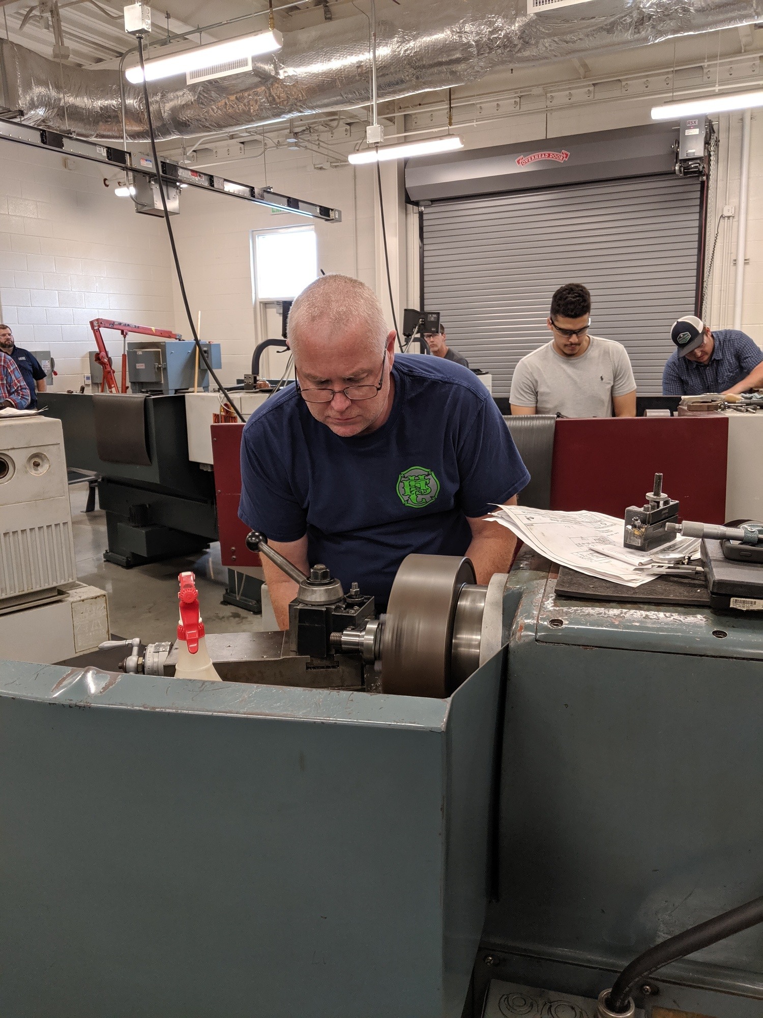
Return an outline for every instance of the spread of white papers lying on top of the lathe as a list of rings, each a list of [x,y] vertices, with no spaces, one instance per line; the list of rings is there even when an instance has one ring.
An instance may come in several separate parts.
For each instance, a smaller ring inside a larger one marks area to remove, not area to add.
[[[610,583],[640,586],[654,579],[644,567],[665,561],[665,555],[691,555],[698,541],[680,539],[654,552],[636,552],[623,547],[625,521],[600,512],[555,512],[526,506],[498,506],[490,517],[508,527],[538,555],[587,576]]]

